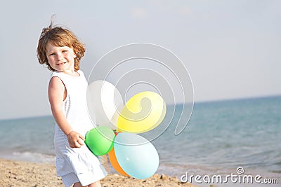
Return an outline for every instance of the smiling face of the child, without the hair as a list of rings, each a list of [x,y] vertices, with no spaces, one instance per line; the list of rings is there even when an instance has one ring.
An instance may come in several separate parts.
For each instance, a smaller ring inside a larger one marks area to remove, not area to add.
[[[73,48],[67,46],[53,46],[50,42],[46,45],[48,63],[56,71],[73,74],[74,58],[76,57]]]

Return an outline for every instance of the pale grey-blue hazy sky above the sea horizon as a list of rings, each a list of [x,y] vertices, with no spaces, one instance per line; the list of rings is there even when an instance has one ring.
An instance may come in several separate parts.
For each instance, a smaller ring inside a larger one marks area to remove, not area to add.
[[[0,119],[51,114],[51,72],[38,63],[36,49],[53,14],[85,44],[87,78],[111,50],[152,43],[183,62],[195,102],[281,95],[280,7],[278,0],[4,1]]]

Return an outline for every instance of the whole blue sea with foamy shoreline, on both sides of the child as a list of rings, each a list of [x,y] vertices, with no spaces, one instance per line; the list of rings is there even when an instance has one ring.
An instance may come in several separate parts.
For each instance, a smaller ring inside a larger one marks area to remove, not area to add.
[[[198,186],[281,186],[281,96],[195,102],[185,130],[175,135],[182,107],[151,141],[159,154],[156,173]],[[54,129],[52,116],[0,120],[0,158],[55,165]]]

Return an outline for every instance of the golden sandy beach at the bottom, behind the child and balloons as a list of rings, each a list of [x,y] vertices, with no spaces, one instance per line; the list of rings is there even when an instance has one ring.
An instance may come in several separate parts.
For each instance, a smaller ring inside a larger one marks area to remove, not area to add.
[[[108,174],[101,181],[102,186],[190,186],[190,183],[181,183],[176,177],[164,174],[155,174],[149,179],[139,180],[119,174]],[[0,186],[1,187],[43,187],[63,186],[63,182],[56,176],[55,166],[15,160],[0,159]]]

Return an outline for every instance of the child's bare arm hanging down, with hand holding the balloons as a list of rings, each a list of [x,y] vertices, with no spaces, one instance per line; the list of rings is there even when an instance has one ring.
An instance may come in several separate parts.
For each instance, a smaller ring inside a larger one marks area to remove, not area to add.
[[[55,122],[58,124],[61,130],[67,135],[68,142],[71,148],[79,148],[84,145],[84,137],[78,132],[72,130],[72,127],[67,122],[65,115],[63,113],[63,100],[66,97],[67,90],[65,90],[65,85],[60,80],[60,78],[54,76],[48,85],[48,99],[51,104],[51,110]]]

